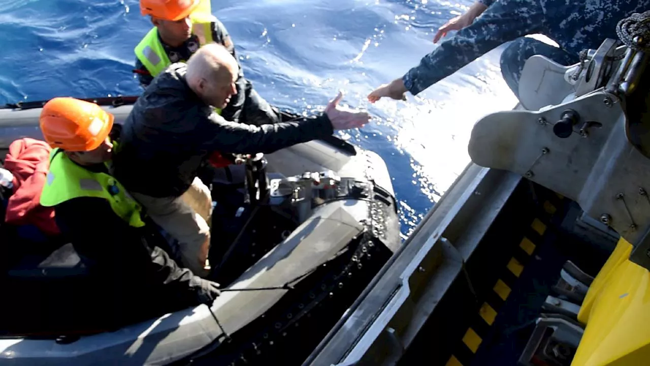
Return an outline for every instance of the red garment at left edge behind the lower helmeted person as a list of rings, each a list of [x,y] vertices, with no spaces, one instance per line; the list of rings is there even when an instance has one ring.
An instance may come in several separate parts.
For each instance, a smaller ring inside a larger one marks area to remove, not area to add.
[[[14,175],[14,193],[9,197],[5,221],[34,225],[47,236],[60,233],[54,221],[54,208],[40,205],[50,150],[45,141],[25,137],[9,145],[5,158],[5,169]]]

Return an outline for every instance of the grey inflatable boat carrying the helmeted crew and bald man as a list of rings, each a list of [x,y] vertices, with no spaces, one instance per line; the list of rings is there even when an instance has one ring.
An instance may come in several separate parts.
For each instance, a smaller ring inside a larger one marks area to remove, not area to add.
[[[89,100],[122,124],[136,98]],[[0,152],[21,137],[42,139],[44,102],[0,109]],[[2,306],[16,301],[25,309],[4,311],[12,327],[1,329],[0,322],[0,364],[300,363],[401,246],[391,176],[380,156],[334,136],[257,154],[233,169],[244,169],[244,182],[211,181],[211,169],[201,176],[219,187],[212,216],[219,240],[209,260],[222,294],[211,306],[112,331],[21,330],[20,317],[62,321],[40,300],[83,291],[66,291],[68,283],[84,283],[85,272],[72,245],[59,243],[31,266],[6,270],[3,288],[11,290]],[[242,199],[233,200],[238,193]]]

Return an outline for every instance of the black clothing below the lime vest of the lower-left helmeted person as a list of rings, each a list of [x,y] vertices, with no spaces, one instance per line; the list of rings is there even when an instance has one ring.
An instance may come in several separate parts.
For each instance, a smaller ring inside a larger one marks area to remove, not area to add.
[[[203,287],[205,280],[179,267],[157,246],[163,239],[157,241],[151,225],[129,226],[105,199],[79,197],[60,203],[55,219],[94,279],[89,298],[101,292],[102,301],[93,311],[101,309],[107,320],[129,324],[217,296]]]

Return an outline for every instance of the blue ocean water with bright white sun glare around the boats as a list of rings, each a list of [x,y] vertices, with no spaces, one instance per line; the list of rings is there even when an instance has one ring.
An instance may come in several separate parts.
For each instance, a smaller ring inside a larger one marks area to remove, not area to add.
[[[387,163],[406,237],[469,163],[474,122],[515,105],[500,75],[503,46],[406,102],[366,96],[434,50],[437,28],[471,3],[222,0],[212,11],[271,104],[316,113],[342,89],[343,104],[373,115],[341,135]],[[133,48],[150,27],[135,0],[0,0],[0,104],[139,94]]]

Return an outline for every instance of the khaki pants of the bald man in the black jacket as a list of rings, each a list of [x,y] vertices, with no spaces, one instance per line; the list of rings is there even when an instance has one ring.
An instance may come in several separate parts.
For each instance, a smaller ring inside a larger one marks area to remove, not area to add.
[[[197,177],[181,197],[151,197],[136,192],[131,195],[146,208],[153,222],[179,241],[179,265],[205,277],[212,221],[209,188]]]

